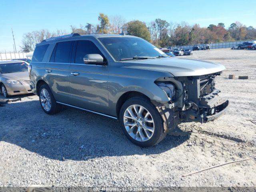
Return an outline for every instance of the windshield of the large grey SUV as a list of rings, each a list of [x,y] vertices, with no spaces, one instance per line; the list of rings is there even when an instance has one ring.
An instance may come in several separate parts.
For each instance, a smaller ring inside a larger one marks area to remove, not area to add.
[[[104,37],[98,39],[117,61],[165,56],[164,52],[141,38]]]

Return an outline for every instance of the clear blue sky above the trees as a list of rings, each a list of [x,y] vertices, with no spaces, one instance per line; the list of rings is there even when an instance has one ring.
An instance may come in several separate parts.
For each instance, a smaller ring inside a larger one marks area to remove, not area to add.
[[[0,0],[0,7],[0,52],[13,51],[11,28],[18,51],[25,33],[98,24],[99,13],[146,23],[161,18],[201,27],[222,22],[228,27],[239,21],[256,28],[256,0]]]

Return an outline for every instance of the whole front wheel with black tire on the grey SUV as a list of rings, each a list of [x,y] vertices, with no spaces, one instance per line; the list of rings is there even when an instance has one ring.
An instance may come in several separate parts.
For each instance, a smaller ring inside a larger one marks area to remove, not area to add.
[[[141,147],[154,146],[166,135],[162,117],[146,97],[128,99],[120,110],[119,121],[125,136]]]

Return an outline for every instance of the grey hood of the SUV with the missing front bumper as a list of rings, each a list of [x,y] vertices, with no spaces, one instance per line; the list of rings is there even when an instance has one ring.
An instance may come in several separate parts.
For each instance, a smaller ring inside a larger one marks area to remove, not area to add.
[[[225,70],[223,65],[184,58],[160,58],[160,59],[145,59],[133,60],[124,62],[128,68],[148,69],[170,72],[173,76],[200,76],[212,74]]]

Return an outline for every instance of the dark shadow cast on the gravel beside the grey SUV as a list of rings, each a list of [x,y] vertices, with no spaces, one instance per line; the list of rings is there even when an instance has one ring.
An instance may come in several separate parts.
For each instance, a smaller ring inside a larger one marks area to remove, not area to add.
[[[190,137],[167,135],[156,146],[140,148],[126,139],[116,120],[66,107],[47,115],[35,100],[7,104],[0,119],[0,141],[56,160],[160,154]]]

